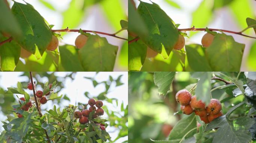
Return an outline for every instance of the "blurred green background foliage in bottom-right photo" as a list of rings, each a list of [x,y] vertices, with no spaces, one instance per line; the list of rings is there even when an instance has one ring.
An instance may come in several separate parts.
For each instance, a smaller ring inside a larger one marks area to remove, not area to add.
[[[238,72],[223,72],[235,79]],[[129,114],[128,131],[129,143],[152,143],[152,140],[165,140],[176,123],[187,115],[180,111],[180,104],[175,100],[175,94],[181,89],[191,89],[197,83],[197,79],[191,77],[190,72],[177,72],[171,85],[170,92],[166,97],[158,94],[158,88],[153,81],[153,73],[129,72]],[[239,79],[243,79],[241,73]],[[224,78],[225,80],[228,80]],[[211,80],[211,87],[225,85],[220,81]],[[233,97],[232,90],[225,92],[225,89],[217,89],[211,92],[213,98],[225,100]],[[222,104],[222,112],[226,114],[228,109],[244,100],[243,96],[228,99]],[[233,117],[246,112],[246,105],[234,111]],[[177,114],[174,114],[177,113]]]

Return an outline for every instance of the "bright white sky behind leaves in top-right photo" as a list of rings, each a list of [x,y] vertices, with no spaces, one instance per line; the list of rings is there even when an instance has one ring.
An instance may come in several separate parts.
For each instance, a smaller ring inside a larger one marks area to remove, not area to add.
[[[151,3],[149,0],[141,0],[141,1]],[[176,24],[179,23],[180,24],[179,28],[182,29],[182,28],[191,28],[192,13],[198,8],[199,4],[203,0],[172,0],[177,4],[179,4],[181,9],[176,9],[175,7],[170,6],[167,2],[165,2],[165,0],[152,0],[152,1],[154,3],[157,3],[161,7],[161,9],[163,9],[165,13],[167,13],[167,15],[170,16],[171,19],[173,19],[173,21]],[[252,4],[254,4],[254,6],[252,7],[256,7],[256,3],[254,2],[254,0],[252,1],[253,1]],[[139,1],[134,0],[134,2],[138,7]],[[255,15],[256,15],[256,10],[255,10]],[[222,8],[220,10],[217,10],[216,13],[214,13],[213,20],[207,27],[216,28],[216,29],[226,29],[230,31],[243,30],[237,25],[237,21],[232,17],[233,15],[228,8]],[[199,27],[196,27],[196,28],[199,28]],[[203,27],[200,27],[200,28],[203,28]],[[252,28],[250,30],[252,31]],[[185,37],[186,44],[189,44],[189,43],[201,44],[201,39],[204,34],[205,32],[198,32],[198,34],[193,35],[191,38]],[[231,34],[231,33],[225,33],[225,34],[232,35],[235,41],[246,44],[240,70],[247,71],[245,58],[247,57],[246,55],[248,55],[252,42],[255,41],[255,39],[237,35],[237,34]],[[253,34],[254,34],[253,32],[250,33],[250,35],[252,36]]]

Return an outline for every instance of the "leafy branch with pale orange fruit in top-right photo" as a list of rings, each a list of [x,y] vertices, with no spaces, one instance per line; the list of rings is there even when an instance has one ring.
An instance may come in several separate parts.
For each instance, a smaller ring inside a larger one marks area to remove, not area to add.
[[[182,29],[179,28],[182,23],[176,24],[158,4],[138,0],[140,3],[136,7],[134,1],[128,1],[129,71],[240,71],[245,44],[236,42],[233,36],[226,33],[256,39],[255,36],[244,34],[249,28],[253,28],[256,33],[256,20],[253,17],[243,19],[247,27],[241,31],[198,28],[198,26],[207,26],[212,17],[209,14],[212,10],[228,4],[234,5],[232,0],[214,0],[213,8],[207,7],[210,4],[206,4],[212,3],[213,0],[203,0],[192,15],[192,24],[195,25],[192,28]],[[237,4],[239,0],[234,1],[235,6],[241,9]],[[184,36],[188,37],[187,31],[205,31],[202,45],[186,44]],[[254,47],[253,45],[250,53],[252,57],[255,57]],[[162,56],[156,57],[157,54]],[[250,66],[254,67],[253,64]]]

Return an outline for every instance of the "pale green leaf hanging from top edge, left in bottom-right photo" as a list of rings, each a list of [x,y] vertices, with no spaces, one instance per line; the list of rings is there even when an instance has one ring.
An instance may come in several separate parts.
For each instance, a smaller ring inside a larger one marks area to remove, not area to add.
[[[155,72],[154,83],[158,86],[159,95],[166,95],[170,90],[176,72]]]

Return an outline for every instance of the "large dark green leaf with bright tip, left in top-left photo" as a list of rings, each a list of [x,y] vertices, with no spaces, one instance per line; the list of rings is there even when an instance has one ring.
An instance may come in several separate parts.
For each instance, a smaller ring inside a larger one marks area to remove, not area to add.
[[[43,17],[30,4],[14,2],[12,13],[22,27],[22,38],[15,39],[30,53],[41,58],[52,39],[51,30]]]

